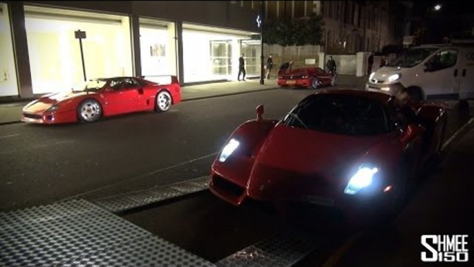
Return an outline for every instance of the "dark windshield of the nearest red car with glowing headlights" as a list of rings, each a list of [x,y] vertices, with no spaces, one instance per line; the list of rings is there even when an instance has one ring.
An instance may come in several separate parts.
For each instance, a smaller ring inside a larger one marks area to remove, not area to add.
[[[371,136],[389,131],[379,102],[351,95],[311,95],[284,119],[284,125],[349,136]]]

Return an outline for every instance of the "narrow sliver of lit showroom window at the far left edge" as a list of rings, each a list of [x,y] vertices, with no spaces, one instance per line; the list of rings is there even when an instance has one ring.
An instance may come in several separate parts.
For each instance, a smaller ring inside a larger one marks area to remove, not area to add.
[[[0,3],[0,96],[18,95],[8,6]]]

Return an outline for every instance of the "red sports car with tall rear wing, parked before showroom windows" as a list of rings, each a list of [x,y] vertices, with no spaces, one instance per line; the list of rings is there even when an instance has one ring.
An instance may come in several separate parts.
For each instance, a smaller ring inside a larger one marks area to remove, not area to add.
[[[180,84],[157,84],[138,77],[113,77],[84,82],[64,93],[51,93],[23,108],[23,122],[56,124],[95,122],[102,116],[135,111],[168,111],[181,100]]]

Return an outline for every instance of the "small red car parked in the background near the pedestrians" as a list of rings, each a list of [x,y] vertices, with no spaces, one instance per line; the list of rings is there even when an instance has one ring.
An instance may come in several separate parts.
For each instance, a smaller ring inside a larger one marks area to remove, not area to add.
[[[322,68],[281,69],[276,79],[278,86],[303,86],[318,89],[321,86],[336,84],[336,75],[332,75]]]

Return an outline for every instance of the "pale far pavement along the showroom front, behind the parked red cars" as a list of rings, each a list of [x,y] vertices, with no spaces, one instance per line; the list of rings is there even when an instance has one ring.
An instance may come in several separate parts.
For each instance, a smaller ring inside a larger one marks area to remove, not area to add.
[[[338,85],[343,88],[363,89],[366,80],[367,77],[339,75]],[[247,80],[246,82],[218,82],[182,86],[181,96],[182,101],[189,101],[272,89],[278,89],[276,80],[265,80],[265,84],[261,85],[259,79],[252,79]],[[27,103],[28,102],[15,102],[0,104],[0,125],[19,122],[21,118],[21,109],[23,109]]]

